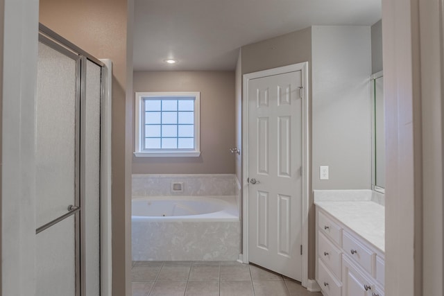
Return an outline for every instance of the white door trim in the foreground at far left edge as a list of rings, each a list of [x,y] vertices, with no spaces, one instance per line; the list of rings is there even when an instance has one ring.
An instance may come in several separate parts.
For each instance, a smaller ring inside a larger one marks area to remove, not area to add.
[[[0,4],[1,295],[35,295],[35,93],[39,2]]]

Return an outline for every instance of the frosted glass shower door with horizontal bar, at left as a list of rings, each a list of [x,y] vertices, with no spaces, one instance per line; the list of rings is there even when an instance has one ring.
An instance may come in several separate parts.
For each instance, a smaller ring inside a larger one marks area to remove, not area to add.
[[[80,295],[80,58],[40,38],[36,103],[38,296]]]

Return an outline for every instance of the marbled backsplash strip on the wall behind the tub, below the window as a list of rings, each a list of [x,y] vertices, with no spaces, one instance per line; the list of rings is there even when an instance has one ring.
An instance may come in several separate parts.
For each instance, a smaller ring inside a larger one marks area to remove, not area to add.
[[[182,182],[182,191],[171,184]],[[153,175],[133,174],[133,196],[239,195],[236,175]]]

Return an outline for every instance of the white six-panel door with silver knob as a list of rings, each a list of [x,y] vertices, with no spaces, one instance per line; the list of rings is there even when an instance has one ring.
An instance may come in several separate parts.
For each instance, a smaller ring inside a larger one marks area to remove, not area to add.
[[[301,71],[248,82],[248,256],[302,278]]]

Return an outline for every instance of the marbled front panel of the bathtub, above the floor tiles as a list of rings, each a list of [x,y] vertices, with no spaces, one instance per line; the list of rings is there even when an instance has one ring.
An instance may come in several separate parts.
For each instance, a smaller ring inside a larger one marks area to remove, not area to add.
[[[133,223],[133,260],[237,260],[237,221],[155,221]]]

